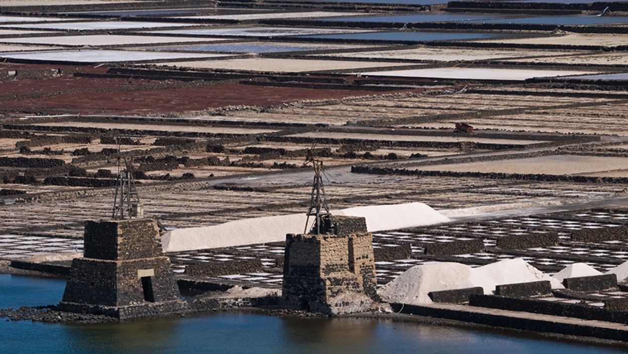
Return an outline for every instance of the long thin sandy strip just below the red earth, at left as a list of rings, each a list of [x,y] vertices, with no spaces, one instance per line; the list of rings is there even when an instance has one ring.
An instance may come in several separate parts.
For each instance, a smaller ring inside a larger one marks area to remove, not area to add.
[[[236,127],[198,127],[198,126],[167,126],[150,124],[114,124],[97,122],[48,122],[37,123],[35,126],[62,126],[62,127],[90,127],[101,129],[136,129],[165,132],[202,132],[202,133],[227,133],[227,134],[259,134],[264,132],[275,132],[273,129],[247,129]]]

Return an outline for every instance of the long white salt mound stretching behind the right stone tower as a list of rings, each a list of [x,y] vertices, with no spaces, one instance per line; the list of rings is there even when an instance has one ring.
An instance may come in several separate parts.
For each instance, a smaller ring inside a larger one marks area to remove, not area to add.
[[[449,222],[423,203],[374,205],[332,210],[334,215],[365,217],[369,232]],[[305,214],[236,220],[207,227],[178,228],[161,237],[165,252],[214,249],[286,240],[286,233],[302,233]],[[310,224],[313,223],[310,218]]]

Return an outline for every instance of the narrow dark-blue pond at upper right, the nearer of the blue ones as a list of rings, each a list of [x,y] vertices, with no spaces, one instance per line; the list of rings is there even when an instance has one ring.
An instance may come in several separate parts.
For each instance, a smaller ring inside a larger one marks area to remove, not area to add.
[[[487,38],[499,38],[499,33],[463,33],[463,32],[367,32],[367,33],[341,33],[335,35],[302,36],[301,38],[318,38],[322,40],[355,40],[355,41],[449,41],[449,40],[480,40]]]

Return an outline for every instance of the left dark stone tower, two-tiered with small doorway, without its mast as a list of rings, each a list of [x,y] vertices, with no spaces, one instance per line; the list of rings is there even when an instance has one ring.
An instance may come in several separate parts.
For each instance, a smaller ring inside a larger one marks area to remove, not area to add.
[[[86,222],[83,255],[72,261],[60,309],[119,319],[183,310],[154,219]]]

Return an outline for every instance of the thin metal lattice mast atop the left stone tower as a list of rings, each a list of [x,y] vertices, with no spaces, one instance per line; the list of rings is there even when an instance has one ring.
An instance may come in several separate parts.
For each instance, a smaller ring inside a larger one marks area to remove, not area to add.
[[[138,190],[133,182],[133,165],[131,161],[124,159],[124,169],[122,169],[122,158],[120,157],[120,142],[116,137],[117,146],[117,182],[116,195],[114,196],[114,210],[112,218],[125,219],[138,217],[140,208]]]

